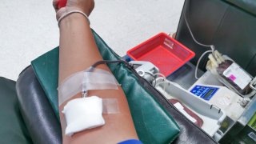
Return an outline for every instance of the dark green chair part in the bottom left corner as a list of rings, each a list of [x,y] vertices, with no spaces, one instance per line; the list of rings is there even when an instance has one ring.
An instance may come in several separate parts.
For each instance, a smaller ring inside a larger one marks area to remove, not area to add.
[[[15,82],[0,77],[0,143],[32,143],[18,106]]]

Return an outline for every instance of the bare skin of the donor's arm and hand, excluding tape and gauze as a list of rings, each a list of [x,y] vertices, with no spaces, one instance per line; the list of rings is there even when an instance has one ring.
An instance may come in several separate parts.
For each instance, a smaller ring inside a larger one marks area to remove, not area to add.
[[[70,10],[81,10],[89,15],[94,9],[93,0],[68,0],[65,8],[58,10],[54,1],[54,8],[57,18]],[[94,62],[102,60],[101,54],[94,41],[90,26],[82,14],[70,14],[60,22],[60,50],[59,50],[59,83],[75,72],[86,70]],[[106,65],[98,66],[103,70],[109,70]],[[63,143],[117,143],[127,139],[138,139],[134,123],[132,121],[126,96],[122,88],[118,90],[90,90],[89,95],[97,95],[100,98],[117,98],[119,114],[103,114],[106,121],[104,126],[91,130],[84,130],[72,137],[63,134]],[[81,94],[74,95],[74,98],[81,98]],[[68,102],[66,101],[66,102]],[[66,122],[63,121],[63,106],[59,107],[60,118],[62,119],[62,131],[64,132]]]

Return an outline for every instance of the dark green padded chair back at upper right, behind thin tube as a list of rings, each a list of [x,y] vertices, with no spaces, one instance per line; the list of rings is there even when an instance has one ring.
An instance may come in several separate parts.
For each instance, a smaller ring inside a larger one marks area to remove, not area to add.
[[[198,46],[192,39],[184,14],[198,42],[213,44],[222,54],[234,59],[252,76],[256,76],[256,1],[186,0],[176,39],[194,50],[196,63],[210,48]],[[254,9],[252,8],[254,7]],[[199,65],[205,70],[207,58]]]

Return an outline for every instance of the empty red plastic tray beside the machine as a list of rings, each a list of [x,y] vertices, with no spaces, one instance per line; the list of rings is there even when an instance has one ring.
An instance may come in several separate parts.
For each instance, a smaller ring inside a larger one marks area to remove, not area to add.
[[[194,52],[174,38],[160,33],[127,51],[134,61],[152,62],[166,77],[194,58]]]

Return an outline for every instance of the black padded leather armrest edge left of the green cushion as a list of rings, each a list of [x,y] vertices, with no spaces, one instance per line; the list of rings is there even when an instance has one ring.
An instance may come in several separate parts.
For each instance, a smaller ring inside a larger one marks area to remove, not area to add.
[[[62,130],[58,118],[31,66],[19,75],[16,90],[22,116],[33,142],[62,143]]]

